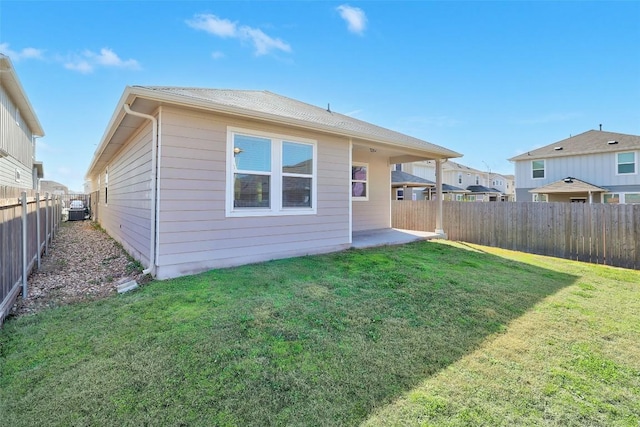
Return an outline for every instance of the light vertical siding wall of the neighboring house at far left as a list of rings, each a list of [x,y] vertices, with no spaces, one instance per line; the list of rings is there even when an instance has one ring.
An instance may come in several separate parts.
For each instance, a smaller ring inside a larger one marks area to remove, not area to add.
[[[0,158],[0,186],[33,188],[33,134],[21,115],[16,122],[16,107],[5,88],[0,86],[0,149],[9,156]],[[16,181],[20,170],[20,182]]]

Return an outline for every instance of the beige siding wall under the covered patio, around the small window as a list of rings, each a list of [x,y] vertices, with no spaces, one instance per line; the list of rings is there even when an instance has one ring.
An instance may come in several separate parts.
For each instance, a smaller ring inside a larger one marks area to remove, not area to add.
[[[355,163],[369,164],[369,200],[353,201],[353,231],[391,227],[391,167],[386,157],[353,152]]]

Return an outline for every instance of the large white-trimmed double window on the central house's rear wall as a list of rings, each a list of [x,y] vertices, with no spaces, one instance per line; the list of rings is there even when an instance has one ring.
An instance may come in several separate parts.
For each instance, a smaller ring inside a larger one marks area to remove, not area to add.
[[[227,216],[316,213],[316,141],[228,128]]]

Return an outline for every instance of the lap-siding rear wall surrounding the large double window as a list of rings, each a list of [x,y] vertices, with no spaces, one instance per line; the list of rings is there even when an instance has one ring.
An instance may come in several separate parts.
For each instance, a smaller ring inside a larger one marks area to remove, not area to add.
[[[348,141],[176,108],[161,116],[159,278],[348,246]],[[316,140],[317,214],[226,217],[228,126]]]

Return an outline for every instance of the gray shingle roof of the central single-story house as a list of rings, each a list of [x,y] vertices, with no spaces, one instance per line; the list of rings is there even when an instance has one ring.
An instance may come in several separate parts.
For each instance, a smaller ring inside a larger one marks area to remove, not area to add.
[[[429,151],[440,158],[461,157],[460,153],[439,145],[268,91],[166,86],[133,87],[134,90],[136,88],[154,92],[160,98],[166,96],[172,97],[172,99],[184,98],[186,103],[191,101],[200,105],[242,111],[249,116],[257,113],[261,118],[295,121],[309,127],[342,133],[355,138]]]

